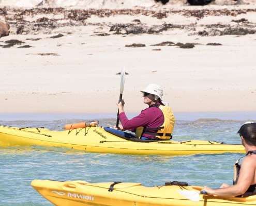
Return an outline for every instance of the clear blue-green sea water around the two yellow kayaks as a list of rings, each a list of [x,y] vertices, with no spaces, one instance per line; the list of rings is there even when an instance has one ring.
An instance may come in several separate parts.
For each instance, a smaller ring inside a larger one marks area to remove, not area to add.
[[[235,144],[240,143],[236,134],[240,125],[248,119],[256,119],[253,118],[256,117],[255,113],[211,113],[208,116],[198,114],[197,117],[203,118],[196,120],[195,114],[191,113],[177,116],[173,138],[177,141],[196,139]],[[71,119],[70,116],[53,120],[53,117],[34,115],[33,118],[37,117],[40,121],[35,121],[32,117],[21,118],[19,115],[2,117],[2,125],[46,127],[53,130],[61,130],[67,123],[83,120]],[[26,121],[26,118],[33,120]],[[94,120],[99,120],[101,126],[115,125],[114,118]],[[218,187],[222,182],[232,184],[233,164],[242,156],[239,153],[173,157],[125,156],[55,147],[0,148],[0,205],[52,205],[30,186],[33,179],[141,182],[147,186],[163,185],[164,182],[177,180],[190,185]]]

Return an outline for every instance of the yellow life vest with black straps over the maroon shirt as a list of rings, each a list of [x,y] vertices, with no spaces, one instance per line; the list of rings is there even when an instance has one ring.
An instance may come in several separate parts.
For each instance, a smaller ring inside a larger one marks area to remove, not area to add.
[[[158,128],[138,127],[136,128],[135,136],[141,138],[142,133],[144,133],[155,135],[156,138],[162,140],[172,139],[172,131],[175,124],[172,109],[163,105],[155,105],[154,107],[158,107],[162,111],[164,117],[163,124]],[[148,130],[156,130],[156,132],[149,132]]]

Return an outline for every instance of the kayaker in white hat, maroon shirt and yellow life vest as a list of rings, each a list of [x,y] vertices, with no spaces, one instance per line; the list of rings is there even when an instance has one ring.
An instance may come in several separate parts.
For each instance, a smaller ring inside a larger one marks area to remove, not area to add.
[[[122,123],[117,129],[131,130],[142,140],[171,139],[175,118],[171,108],[162,102],[162,87],[152,83],[141,92],[148,108],[130,120],[124,111],[124,100],[116,103]]]

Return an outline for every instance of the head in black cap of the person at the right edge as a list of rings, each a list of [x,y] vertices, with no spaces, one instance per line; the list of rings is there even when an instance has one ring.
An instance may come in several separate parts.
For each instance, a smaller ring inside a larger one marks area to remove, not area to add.
[[[256,123],[245,123],[237,132],[248,145],[256,146]]]

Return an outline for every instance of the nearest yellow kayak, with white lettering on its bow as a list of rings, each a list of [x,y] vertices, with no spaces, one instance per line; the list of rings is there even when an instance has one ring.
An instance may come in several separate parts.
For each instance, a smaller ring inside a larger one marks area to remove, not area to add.
[[[202,187],[180,186],[179,184],[146,187],[140,183],[33,180],[31,185],[44,198],[57,206],[256,205],[256,195],[249,197],[199,195]],[[191,196],[194,195],[198,197],[192,199]]]

